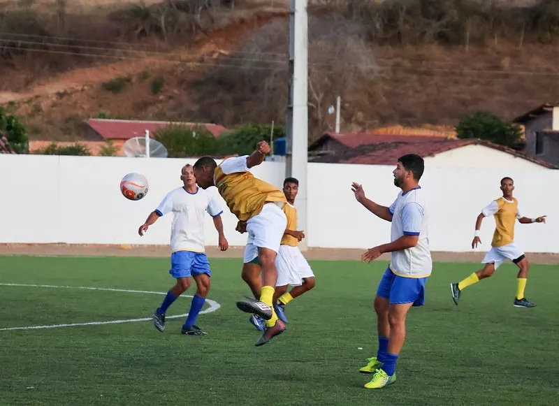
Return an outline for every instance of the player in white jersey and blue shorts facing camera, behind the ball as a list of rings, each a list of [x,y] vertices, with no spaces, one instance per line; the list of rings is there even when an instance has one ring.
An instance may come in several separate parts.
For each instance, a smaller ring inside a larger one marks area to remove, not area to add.
[[[212,276],[204,246],[205,212],[213,217],[215,229],[219,233],[219,248],[225,251],[228,243],[223,232],[221,217],[223,210],[219,208],[215,198],[196,186],[196,178],[191,165],[182,168],[180,179],[184,186],[170,191],[165,196],[157,209],[151,212],[145,223],[140,226],[138,233],[143,235],[159,217],[173,212],[169,273],[177,280],[177,283],[167,292],[161,307],[153,312],[153,324],[157,330],[165,330],[165,313],[168,307],[190,287],[190,278],[194,277],[196,294],[192,298],[190,311],[181,332],[187,335],[203,335],[205,333],[196,326],[195,322],[210,291],[210,277]]]

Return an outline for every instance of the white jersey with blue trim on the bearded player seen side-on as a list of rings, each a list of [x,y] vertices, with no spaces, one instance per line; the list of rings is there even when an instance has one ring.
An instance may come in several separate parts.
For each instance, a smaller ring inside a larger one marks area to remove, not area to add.
[[[433,269],[429,249],[428,210],[425,193],[421,187],[401,191],[389,208],[392,214],[391,240],[402,235],[417,235],[415,247],[392,252],[390,268],[403,277],[428,277]]]

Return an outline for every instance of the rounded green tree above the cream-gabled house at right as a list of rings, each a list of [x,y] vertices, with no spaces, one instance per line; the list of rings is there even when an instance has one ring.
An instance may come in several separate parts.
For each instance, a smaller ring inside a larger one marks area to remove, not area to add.
[[[456,126],[458,138],[479,138],[495,144],[514,147],[521,142],[522,129],[517,124],[505,122],[496,115],[478,111],[463,117]]]

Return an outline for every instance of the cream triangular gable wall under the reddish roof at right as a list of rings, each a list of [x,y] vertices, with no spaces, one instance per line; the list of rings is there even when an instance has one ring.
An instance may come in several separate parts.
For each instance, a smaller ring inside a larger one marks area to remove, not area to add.
[[[473,159],[472,159],[473,158]],[[484,145],[466,145],[447,152],[426,157],[425,164],[430,166],[447,166],[449,168],[514,168],[539,171],[545,167],[528,159],[515,157],[507,152],[495,150]]]

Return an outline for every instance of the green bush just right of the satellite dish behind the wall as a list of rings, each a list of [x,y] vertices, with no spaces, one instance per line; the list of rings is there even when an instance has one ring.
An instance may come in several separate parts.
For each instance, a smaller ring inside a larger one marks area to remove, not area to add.
[[[170,124],[154,133],[169,158],[201,157],[218,153],[217,139],[204,126]]]

